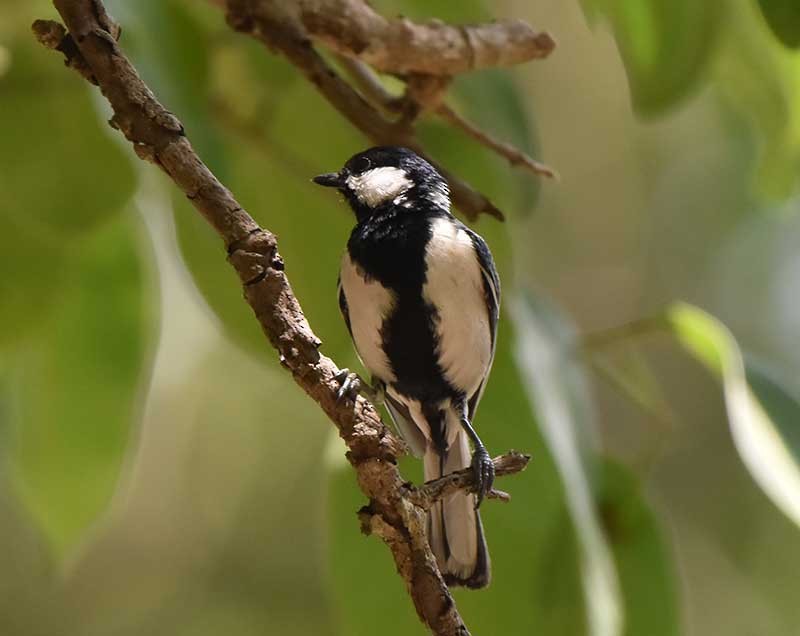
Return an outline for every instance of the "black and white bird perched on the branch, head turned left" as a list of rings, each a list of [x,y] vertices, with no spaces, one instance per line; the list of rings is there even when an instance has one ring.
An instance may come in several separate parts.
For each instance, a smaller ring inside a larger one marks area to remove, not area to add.
[[[457,492],[438,502],[428,536],[448,584],[484,587],[490,564],[477,508],[494,465],[472,422],[495,352],[492,255],[451,214],[447,182],[411,150],[370,148],[314,181],[337,188],[356,216],[339,306],[373,388],[424,458],[426,481],[475,471],[477,497]]]

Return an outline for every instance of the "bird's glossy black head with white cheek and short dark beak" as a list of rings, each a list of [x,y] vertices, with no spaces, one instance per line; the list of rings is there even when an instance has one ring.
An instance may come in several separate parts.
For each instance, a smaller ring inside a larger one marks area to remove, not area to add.
[[[352,156],[339,172],[314,177],[314,183],[337,188],[359,220],[387,204],[408,210],[419,205],[450,209],[447,182],[408,148],[370,148]]]

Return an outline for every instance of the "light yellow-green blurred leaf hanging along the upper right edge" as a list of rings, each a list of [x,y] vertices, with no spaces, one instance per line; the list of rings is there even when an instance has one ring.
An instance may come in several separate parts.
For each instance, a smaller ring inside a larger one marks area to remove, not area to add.
[[[800,175],[800,51],[782,47],[751,3],[735,3],[716,64],[723,95],[759,139],[757,185],[784,199]]]

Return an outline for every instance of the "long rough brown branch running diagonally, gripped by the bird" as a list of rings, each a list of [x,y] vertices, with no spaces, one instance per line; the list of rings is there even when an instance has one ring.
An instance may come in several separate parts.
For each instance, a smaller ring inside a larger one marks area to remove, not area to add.
[[[468,636],[428,544],[420,503],[454,488],[472,488],[471,477],[459,474],[446,484],[434,482],[421,489],[402,479],[396,462],[405,446],[384,426],[374,406],[362,397],[337,401],[339,369],[319,351],[321,342],[292,292],[275,236],[258,226],[197,156],[180,121],[158,102],[120,49],[119,28],[101,0],[54,0],[54,5],[69,34],[61,25],[42,20],[34,23],[34,33],[46,46],[64,52],[69,66],[100,87],[114,111],[111,125],[139,157],[172,178],[222,237],[245,299],[281,364],[345,441],[358,484],[369,498],[369,513],[362,514],[362,521],[389,546],[420,619],[434,634]],[[294,49],[293,54],[304,55]],[[337,80],[321,81],[335,86]],[[361,108],[358,103],[354,107]],[[516,470],[522,468],[524,464],[517,464]]]

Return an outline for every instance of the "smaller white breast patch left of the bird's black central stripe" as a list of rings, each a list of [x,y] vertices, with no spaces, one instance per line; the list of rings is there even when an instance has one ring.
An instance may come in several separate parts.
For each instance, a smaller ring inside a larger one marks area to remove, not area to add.
[[[356,351],[369,371],[384,382],[396,377],[381,346],[381,327],[395,304],[394,293],[376,280],[366,280],[363,271],[345,252],[341,284],[347,299],[350,330]]]

